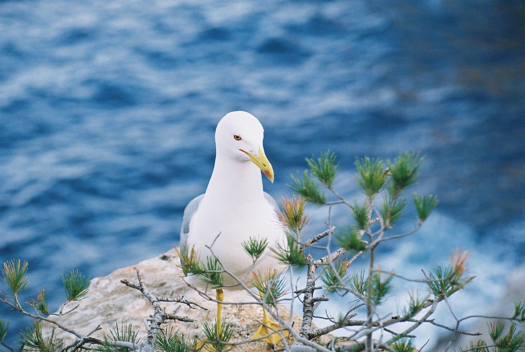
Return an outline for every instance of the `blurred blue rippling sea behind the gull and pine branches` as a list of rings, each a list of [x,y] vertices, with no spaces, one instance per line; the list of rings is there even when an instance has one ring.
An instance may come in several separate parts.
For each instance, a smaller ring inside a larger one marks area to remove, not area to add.
[[[47,287],[55,310],[72,268],[103,276],[172,249],[233,110],[265,127],[277,200],[312,154],[337,153],[336,187],[352,199],[356,156],[421,151],[409,193],[440,203],[377,260],[418,276],[470,250],[477,277],[454,297],[459,316],[485,313],[524,270],[521,0],[4,0],[0,260],[29,262],[23,299]],[[309,211],[317,234],[327,210]],[[30,324],[6,306],[0,318],[9,343]],[[418,347],[437,334],[423,329]]]

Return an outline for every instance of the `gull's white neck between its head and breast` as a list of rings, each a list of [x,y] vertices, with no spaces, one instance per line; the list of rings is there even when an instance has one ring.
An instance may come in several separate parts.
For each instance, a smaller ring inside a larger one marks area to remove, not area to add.
[[[239,205],[264,198],[259,168],[248,160],[241,161],[217,155],[205,198],[232,200]]]

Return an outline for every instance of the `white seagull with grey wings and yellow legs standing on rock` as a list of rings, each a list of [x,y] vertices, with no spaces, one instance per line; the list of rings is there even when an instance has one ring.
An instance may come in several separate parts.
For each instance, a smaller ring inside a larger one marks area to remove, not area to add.
[[[244,280],[248,287],[254,287],[251,273],[275,270],[281,273],[286,269],[270,252],[278,243],[286,243],[286,233],[277,221],[279,207],[276,201],[262,190],[261,171],[274,182],[274,170],[262,146],[263,137],[261,123],[248,112],[229,112],[219,121],[215,130],[216,157],[212,177],[206,192],[186,206],[181,228],[181,253],[192,252],[202,263],[206,263],[206,257],[216,256],[225,270]],[[268,243],[255,263],[242,245],[250,238],[266,239]],[[184,261],[188,261],[187,255],[184,257],[181,255],[183,267],[187,265]],[[223,288],[243,289],[232,275],[220,275],[223,286],[214,287],[218,302],[217,329],[220,302],[224,302]],[[197,275],[188,275],[185,280],[203,287]],[[281,329],[267,317],[263,308],[262,325],[251,337],[275,345],[281,336],[289,334],[286,330],[280,334],[276,332]]]

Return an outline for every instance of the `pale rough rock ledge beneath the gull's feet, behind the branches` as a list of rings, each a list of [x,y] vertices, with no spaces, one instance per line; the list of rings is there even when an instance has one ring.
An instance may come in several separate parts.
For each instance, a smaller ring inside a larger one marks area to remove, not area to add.
[[[75,307],[73,312],[60,318],[60,323],[66,327],[76,330],[79,333],[87,334],[98,325],[101,330],[93,334],[93,337],[102,338],[109,334],[111,328],[121,322],[132,323],[133,329],[139,330],[139,336],[146,336],[144,319],[153,314],[153,309],[148,301],[137,289],[133,289],[121,283],[122,279],[127,279],[132,283],[138,283],[135,270],[139,270],[145,286],[149,291],[160,297],[181,298],[195,302],[208,310],[196,308],[191,309],[186,305],[178,303],[163,303],[166,312],[177,310],[177,315],[188,316],[195,320],[193,323],[176,322],[169,323],[186,337],[202,338],[202,323],[207,321],[213,323],[216,315],[217,306],[214,302],[207,301],[196,291],[188,287],[182,280],[182,272],[178,268],[179,258],[174,250],[160,256],[142,261],[137,265],[118,269],[108,276],[97,277],[91,280],[88,297],[79,302],[69,303],[64,311]],[[211,296],[215,292],[210,292]],[[225,291],[225,302],[255,302],[244,291]],[[223,305],[223,318],[227,320],[233,329],[232,341],[248,339],[257,329],[259,323],[256,320],[262,317],[262,308],[256,304],[243,305]],[[290,314],[286,307],[280,306],[280,314],[287,318]],[[294,326],[298,327],[301,318],[297,315],[293,317]],[[164,325],[166,327],[166,325]],[[44,328],[44,333],[49,334],[49,327]],[[74,338],[66,332],[57,332],[58,337],[66,341]],[[282,344],[282,343],[280,343]],[[277,346],[279,347],[279,346]],[[268,350],[269,345],[261,341],[253,341],[234,347],[232,351],[264,351]]]

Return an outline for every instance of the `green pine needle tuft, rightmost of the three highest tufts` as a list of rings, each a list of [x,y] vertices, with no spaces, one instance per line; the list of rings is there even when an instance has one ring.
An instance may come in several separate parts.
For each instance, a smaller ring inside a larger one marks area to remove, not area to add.
[[[388,161],[392,180],[390,188],[392,198],[397,198],[405,188],[416,182],[419,176],[417,171],[422,162],[423,158],[419,158],[419,152],[404,152],[395,158],[393,163]]]

